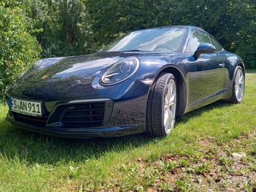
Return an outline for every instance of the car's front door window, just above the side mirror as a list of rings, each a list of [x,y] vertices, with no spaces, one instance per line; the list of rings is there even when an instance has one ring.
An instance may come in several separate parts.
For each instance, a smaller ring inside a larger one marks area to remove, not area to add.
[[[209,36],[201,31],[195,31],[191,38],[189,52],[195,52],[198,45],[203,44],[203,43],[211,44],[211,40],[210,40]]]

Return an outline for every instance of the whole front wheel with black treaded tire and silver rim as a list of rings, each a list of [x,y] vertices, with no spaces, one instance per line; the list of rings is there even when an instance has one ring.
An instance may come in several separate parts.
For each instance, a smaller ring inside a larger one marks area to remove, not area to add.
[[[177,82],[173,74],[160,74],[148,97],[147,133],[164,137],[172,132],[177,112]]]

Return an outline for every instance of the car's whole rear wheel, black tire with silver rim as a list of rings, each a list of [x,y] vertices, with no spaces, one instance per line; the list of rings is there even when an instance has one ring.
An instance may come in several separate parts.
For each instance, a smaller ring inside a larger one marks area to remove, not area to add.
[[[230,102],[235,104],[240,103],[243,101],[244,96],[244,70],[241,66],[237,66],[233,84],[232,84],[232,96],[230,98]]]

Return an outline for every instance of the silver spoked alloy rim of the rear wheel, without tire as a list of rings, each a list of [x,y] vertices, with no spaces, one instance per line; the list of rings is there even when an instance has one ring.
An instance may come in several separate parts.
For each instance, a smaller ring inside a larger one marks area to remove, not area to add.
[[[244,74],[241,69],[237,70],[235,81],[236,99],[238,102],[241,102],[244,95]]]

